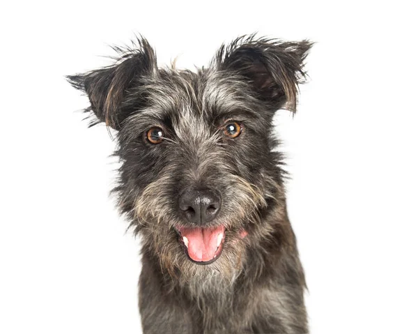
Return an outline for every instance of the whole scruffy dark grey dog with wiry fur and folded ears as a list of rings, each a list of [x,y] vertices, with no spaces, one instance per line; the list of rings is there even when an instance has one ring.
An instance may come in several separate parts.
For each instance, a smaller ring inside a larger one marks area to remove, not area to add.
[[[295,112],[307,40],[242,36],[208,68],[158,68],[144,38],[69,76],[118,132],[118,208],[142,240],[144,333],[307,333],[272,117]]]

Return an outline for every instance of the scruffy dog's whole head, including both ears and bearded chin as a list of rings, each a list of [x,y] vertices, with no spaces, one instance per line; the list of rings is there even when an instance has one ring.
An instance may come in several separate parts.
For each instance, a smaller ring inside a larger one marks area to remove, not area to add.
[[[118,206],[171,275],[233,275],[271,232],[265,210],[285,205],[272,116],[295,111],[310,46],[242,37],[191,72],[157,68],[141,38],[114,66],[68,77],[94,123],[118,130]]]

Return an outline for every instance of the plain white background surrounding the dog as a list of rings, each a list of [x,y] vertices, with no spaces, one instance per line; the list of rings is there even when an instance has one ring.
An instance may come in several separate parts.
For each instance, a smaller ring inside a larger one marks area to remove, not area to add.
[[[3,3],[0,333],[140,333],[139,240],[108,198],[114,142],[64,75],[142,33],[160,65],[244,33],[316,42],[277,116],[311,333],[418,333],[413,1]]]

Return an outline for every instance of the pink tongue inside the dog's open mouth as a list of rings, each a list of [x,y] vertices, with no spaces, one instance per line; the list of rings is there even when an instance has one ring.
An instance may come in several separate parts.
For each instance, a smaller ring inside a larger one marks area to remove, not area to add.
[[[190,259],[194,261],[210,261],[215,257],[219,243],[219,234],[222,237],[225,227],[218,226],[212,228],[180,228],[181,236],[187,238],[187,252]],[[183,238],[183,241],[184,238]]]

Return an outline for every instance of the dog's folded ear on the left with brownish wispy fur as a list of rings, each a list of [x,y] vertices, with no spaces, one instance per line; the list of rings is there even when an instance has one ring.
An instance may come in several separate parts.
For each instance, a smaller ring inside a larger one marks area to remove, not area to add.
[[[119,56],[113,66],[92,70],[91,72],[69,75],[68,82],[88,95],[93,112],[98,120],[91,125],[104,122],[116,130],[134,108],[123,103],[138,81],[152,75],[157,69],[155,52],[145,38],[138,38],[133,47],[113,47]]]

